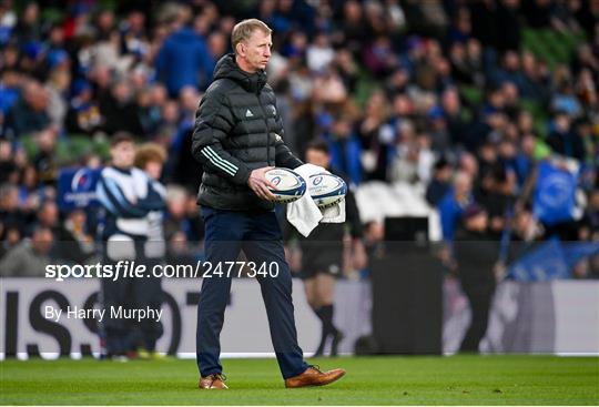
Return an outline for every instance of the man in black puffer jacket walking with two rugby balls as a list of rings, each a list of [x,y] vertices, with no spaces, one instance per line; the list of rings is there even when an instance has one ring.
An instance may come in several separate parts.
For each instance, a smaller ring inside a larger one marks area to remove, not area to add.
[[[204,169],[197,202],[205,224],[206,264],[226,269],[243,250],[256,268],[276,263],[278,273],[256,275],[266,306],[271,337],[286,387],[325,385],[345,372],[307,365],[297,344],[292,277],[275,213],[275,189],[264,174],[273,166],[303,163],[283,142],[283,123],[264,70],[271,58],[271,29],[260,20],[233,28],[234,54],[214,70],[196,112],[192,153]],[[203,278],[197,309],[196,356],[200,388],[226,388],[220,363],[220,333],[232,275]]]

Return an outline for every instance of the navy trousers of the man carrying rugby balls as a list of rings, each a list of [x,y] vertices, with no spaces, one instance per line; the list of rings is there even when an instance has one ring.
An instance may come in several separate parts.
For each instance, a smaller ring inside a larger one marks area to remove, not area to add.
[[[243,250],[247,262],[278,264],[276,277],[256,276],[266,307],[271,338],[283,378],[302,374],[308,365],[297,344],[293,316],[292,276],[282,243],[282,233],[274,212],[219,211],[203,206],[206,262],[216,267],[235,262]],[[266,267],[268,269],[268,267]],[[197,306],[196,358],[202,376],[222,372],[220,334],[231,291],[226,275],[204,278]]]

